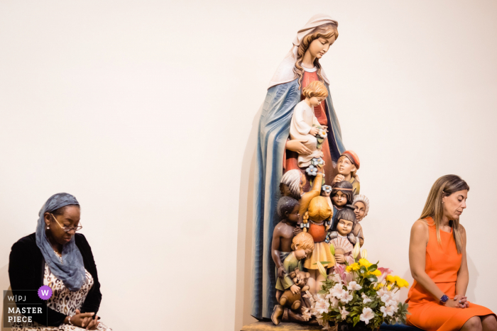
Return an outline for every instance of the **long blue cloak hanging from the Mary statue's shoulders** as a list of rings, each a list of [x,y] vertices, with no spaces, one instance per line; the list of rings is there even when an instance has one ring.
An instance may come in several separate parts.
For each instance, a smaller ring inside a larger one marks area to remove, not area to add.
[[[326,84],[327,85],[327,84]],[[337,162],[345,151],[342,132],[334,111],[331,93],[326,99],[328,142],[332,160]],[[271,257],[273,230],[278,223],[276,205],[280,198],[280,180],[283,175],[285,143],[290,135],[293,108],[300,102],[298,80],[272,86],[264,100],[258,128],[253,274],[252,315],[271,318],[275,298],[275,264]]]

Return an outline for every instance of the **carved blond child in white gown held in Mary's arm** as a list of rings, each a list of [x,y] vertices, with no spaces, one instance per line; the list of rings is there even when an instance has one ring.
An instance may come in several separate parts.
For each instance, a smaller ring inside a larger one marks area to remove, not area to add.
[[[314,107],[328,96],[326,86],[320,81],[310,82],[302,89],[304,100],[297,103],[293,110],[292,122],[290,123],[290,139],[306,141],[303,145],[307,147],[311,153],[298,155],[298,166],[301,168],[308,167],[313,158],[323,156],[321,152],[321,143],[318,143],[326,138],[326,126],[322,126],[314,114]]]

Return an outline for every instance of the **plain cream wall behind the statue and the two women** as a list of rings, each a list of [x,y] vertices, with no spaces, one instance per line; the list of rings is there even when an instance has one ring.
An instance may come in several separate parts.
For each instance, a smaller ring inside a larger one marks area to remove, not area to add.
[[[252,322],[258,108],[315,13],[339,21],[321,63],[361,159],[370,259],[412,283],[410,227],[435,179],[459,174],[467,295],[497,311],[495,1],[0,1],[1,289],[13,242],[67,191],[104,323]]]

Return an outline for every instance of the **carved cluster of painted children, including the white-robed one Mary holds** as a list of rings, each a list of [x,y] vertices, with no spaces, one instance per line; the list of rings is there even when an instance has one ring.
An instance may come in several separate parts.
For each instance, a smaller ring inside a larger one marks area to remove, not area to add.
[[[295,106],[290,139],[307,141],[311,154],[298,155],[299,169],[287,170],[280,181],[280,222],[275,226],[271,245],[278,302],[271,316],[275,325],[282,319],[302,321],[302,308],[307,305],[302,292],[317,293],[324,281],[317,264],[332,274],[336,264],[354,263],[354,245],[358,241],[364,245],[359,223],[369,209],[368,198],[359,194],[356,172],[360,164],[355,152],[342,153],[332,185],[324,185],[320,145],[327,128],[319,125],[313,108],[327,96],[327,89],[317,81],[302,92],[305,99]],[[310,186],[306,186],[306,173]],[[309,191],[305,192],[304,187],[310,187]]]

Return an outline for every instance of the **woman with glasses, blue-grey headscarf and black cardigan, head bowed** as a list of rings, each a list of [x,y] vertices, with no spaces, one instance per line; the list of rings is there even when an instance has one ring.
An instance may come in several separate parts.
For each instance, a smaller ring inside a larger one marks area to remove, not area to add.
[[[92,249],[84,235],[76,233],[81,228],[80,203],[68,193],[57,193],[41,208],[36,232],[12,246],[13,294],[45,306],[38,289],[48,286],[53,292],[46,313],[25,311],[26,318],[14,322],[12,330],[111,330],[96,315],[102,293]]]

